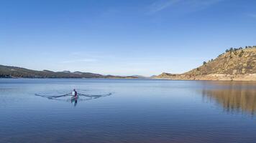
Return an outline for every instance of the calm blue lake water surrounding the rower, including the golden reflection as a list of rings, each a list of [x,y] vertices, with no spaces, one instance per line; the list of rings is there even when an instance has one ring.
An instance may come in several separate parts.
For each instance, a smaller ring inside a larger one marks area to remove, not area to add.
[[[255,143],[255,113],[256,82],[0,79],[0,142]]]

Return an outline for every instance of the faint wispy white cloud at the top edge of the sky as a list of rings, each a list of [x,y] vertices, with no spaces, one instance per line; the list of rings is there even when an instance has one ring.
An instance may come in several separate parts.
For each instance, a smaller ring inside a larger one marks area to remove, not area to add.
[[[150,13],[156,13],[170,8],[199,11],[223,0],[157,0],[150,5]]]

